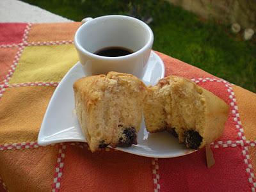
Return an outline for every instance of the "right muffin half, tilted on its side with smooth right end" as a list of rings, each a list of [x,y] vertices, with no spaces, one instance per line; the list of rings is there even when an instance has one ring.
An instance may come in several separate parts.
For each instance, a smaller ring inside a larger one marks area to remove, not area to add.
[[[148,132],[168,131],[194,149],[220,138],[228,111],[219,97],[177,76],[165,77],[149,87],[144,104]]]

